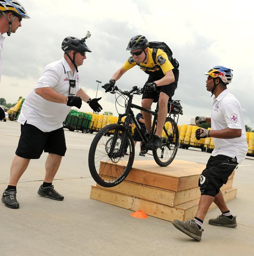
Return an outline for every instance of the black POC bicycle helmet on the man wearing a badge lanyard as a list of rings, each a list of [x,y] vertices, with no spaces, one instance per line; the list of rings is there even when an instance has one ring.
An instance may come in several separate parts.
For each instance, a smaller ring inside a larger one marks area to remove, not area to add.
[[[92,52],[83,40],[80,40],[74,36],[67,36],[66,38],[64,38],[62,43],[62,50],[64,52]]]

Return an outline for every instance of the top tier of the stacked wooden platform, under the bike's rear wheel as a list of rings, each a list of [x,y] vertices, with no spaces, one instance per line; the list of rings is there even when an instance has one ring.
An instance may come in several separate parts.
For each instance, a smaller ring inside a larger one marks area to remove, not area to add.
[[[122,172],[123,166],[101,162],[100,174],[116,177],[116,172]],[[142,168],[142,169],[141,169]],[[133,167],[125,180],[154,186],[171,191],[182,191],[197,187],[199,176],[204,164],[174,160],[169,166],[160,167],[154,161],[134,161]],[[229,177],[233,179],[234,172]]]

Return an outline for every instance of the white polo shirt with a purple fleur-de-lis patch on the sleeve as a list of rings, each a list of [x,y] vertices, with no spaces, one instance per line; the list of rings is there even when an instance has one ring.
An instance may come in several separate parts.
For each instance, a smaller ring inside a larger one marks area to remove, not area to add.
[[[226,155],[237,157],[237,163],[245,159],[248,151],[246,131],[243,122],[241,105],[234,95],[226,89],[213,100],[211,128],[212,130],[223,130],[225,128],[241,129],[241,137],[234,139],[213,138],[214,150],[212,156]]]

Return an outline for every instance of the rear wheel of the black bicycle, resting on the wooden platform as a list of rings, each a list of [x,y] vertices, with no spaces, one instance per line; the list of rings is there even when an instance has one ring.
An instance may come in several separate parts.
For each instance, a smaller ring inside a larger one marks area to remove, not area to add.
[[[161,133],[162,147],[153,150],[155,162],[159,166],[168,166],[172,163],[179,147],[179,131],[176,122],[167,117]]]

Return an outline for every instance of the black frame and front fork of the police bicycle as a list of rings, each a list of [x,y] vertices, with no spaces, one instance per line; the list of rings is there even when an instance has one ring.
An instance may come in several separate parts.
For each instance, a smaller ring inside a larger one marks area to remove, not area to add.
[[[119,151],[118,151],[118,153],[116,153],[115,157],[119,157],[119,156],[122,155],[122,152],[123,152],[123,149],[124,149],[124,145],[125,145],[125,140],[126,140],[126,137],[127,137],[127,131],[128,131],[129,123],[130,123],[130,118],[132,118],[132,120],[133,120],[133,122],[134,122],[134,124],[136,126],[136,129],[138,130],[138,133],[140,134],[142,140],[145,143],[148,142],[145,134],[143,133],[143,131],[142,131],[142,129],[141,129],[139,123],[138,123],[138,120],[136,120],[136,117],[135,117],[135,115],[134,115],[134,113],[132,111],[132,108],[139,109],[141,111],[144,111],[144,112],[147,112],[149,114],[154,115],[154,120],[153,120],[153,123],[152,123],[152,130],[151,130],[152,134],[154,134],[155,125],[156,125],[156,122],[157,122],[158,103],[156,105],[155,111],[151,111],[149,109],[145,109],[144,107],[141,107],[141,106],[133,104],[132,103],[133,95],[129,95],[128,98],[129,98],[129,100],[128,100],[128,103],[127,103],[127,106],[126,106],[125,113],[124,114],[119,114],[119,118],[118,118],[118,124],[124,125],[125,129],[124,129],[124,132],[122,134],[122,142],[121,142]],[[122,117],[125,117],[125,116],[127,116],[127,121],[126,122],[122,122]],[[169,113],[169,116],[170,116],[170,113]],[[174,117],[175,116],[176,115],[174,114]],[[177,117],[177,121],[178,121],[178,118],[179,118],[179,116]],[[168,137],[168,139],[171,139],[171,137],[168,134],[168,131],[166,130],[165,126],[163,126],[163,131],[165,132],[165,134]],[[174,134],[175,134],[175,128],[174,127],[172,127],[172,132],[173,132],[172,133],[172,138],[174,138]],[[114,145],[116,143],[117,137],[118,137],[118,133],[114,134],[113,140],[112,140],[112,144],[111,144],[111,147],[110,147],[110,152],[108,154],[108,156],[110,156],[110,157],[113,156],[113,149],[114,149]],[[162,145],[166,145],[166,143],[163,143]]]

